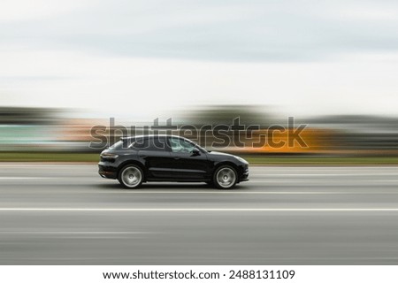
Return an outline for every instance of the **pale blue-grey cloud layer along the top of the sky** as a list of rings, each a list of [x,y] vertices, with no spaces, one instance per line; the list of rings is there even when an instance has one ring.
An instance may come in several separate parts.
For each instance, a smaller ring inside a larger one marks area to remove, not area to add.
[[[398,49],[392,1],[115,0],[58,11],[9,23],[0,36],[110,56],[218,61],[314,61]]]

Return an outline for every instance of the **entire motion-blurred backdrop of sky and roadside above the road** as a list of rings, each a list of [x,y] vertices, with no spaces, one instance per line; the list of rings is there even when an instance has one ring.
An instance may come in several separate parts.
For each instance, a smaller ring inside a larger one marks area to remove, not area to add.
[[[261,164],[397,164],[397,11],[387,0],[3,1],[0,161],[97,161],[90,129],[122,134],[110,118],[240,117],[257,139],[294,117],[308,148],[222,150]]]

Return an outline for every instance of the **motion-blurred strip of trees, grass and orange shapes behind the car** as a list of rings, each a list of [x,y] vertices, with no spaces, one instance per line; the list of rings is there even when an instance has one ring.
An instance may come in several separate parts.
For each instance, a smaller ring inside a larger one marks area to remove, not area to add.
[[[0,108],[2,161],[96,162],[98,153],[120,137],[154,133],[148,131],[154,121],[74,117],[80,115],[80,112],[66,109]],[[239,137],[231,130],[216,132],[206,128],[232,126],[237,117],[245,127]],[[289,125],[287,117],[272,113],[272,107],[203,105],[189,111],[176,111],[170,118],[169,123],[172,121],[170,124],[177,126],[177,130],[167,126],[167,119],[157,119],[158,125],[164,127],[160,134],[169,130],[168,133],[184,135],[206,149],[233,152],[256,164],[398,163],[398,119],[394,117],[325,115],[295,119],[295,124]],[[92,130],[95,126],[106,129],[95,133]],[[195,130],[182,131],[183,126]],[[249,126],[258,128],[247,129]],[[272,126],[285,129],[273,129]],[[305,127],[298,131],[299,126]],[[289,134],[295,131],[307,147],[299,142],[289,145]],[[99,142],[97,134],[105,136],[107,142]],[[226,135],[231,142],[221,144]],[[272,146],[264,136],[272,136],[273,142],[281,142],[282,146]],[[261,146],[254,143],[261,143]]]

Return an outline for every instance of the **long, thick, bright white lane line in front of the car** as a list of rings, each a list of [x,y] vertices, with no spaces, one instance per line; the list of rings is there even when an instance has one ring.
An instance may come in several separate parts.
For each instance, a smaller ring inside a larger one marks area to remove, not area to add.
[[[0,208],[0,211],[213,211],[213,212],[232,212],[232,211],[398,211],[398,208],[280,208],[280,209],[272,209],[272,208],[246,208],[246,209],[237,209],[237,208],[142,208],[142,209],[132,209],[132,208]]]

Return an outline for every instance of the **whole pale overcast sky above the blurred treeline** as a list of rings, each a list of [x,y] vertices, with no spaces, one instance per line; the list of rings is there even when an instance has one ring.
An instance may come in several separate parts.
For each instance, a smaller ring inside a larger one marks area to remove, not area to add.
[[[2,0],[0,105],[397,116],[397,27],[396,0]]]

